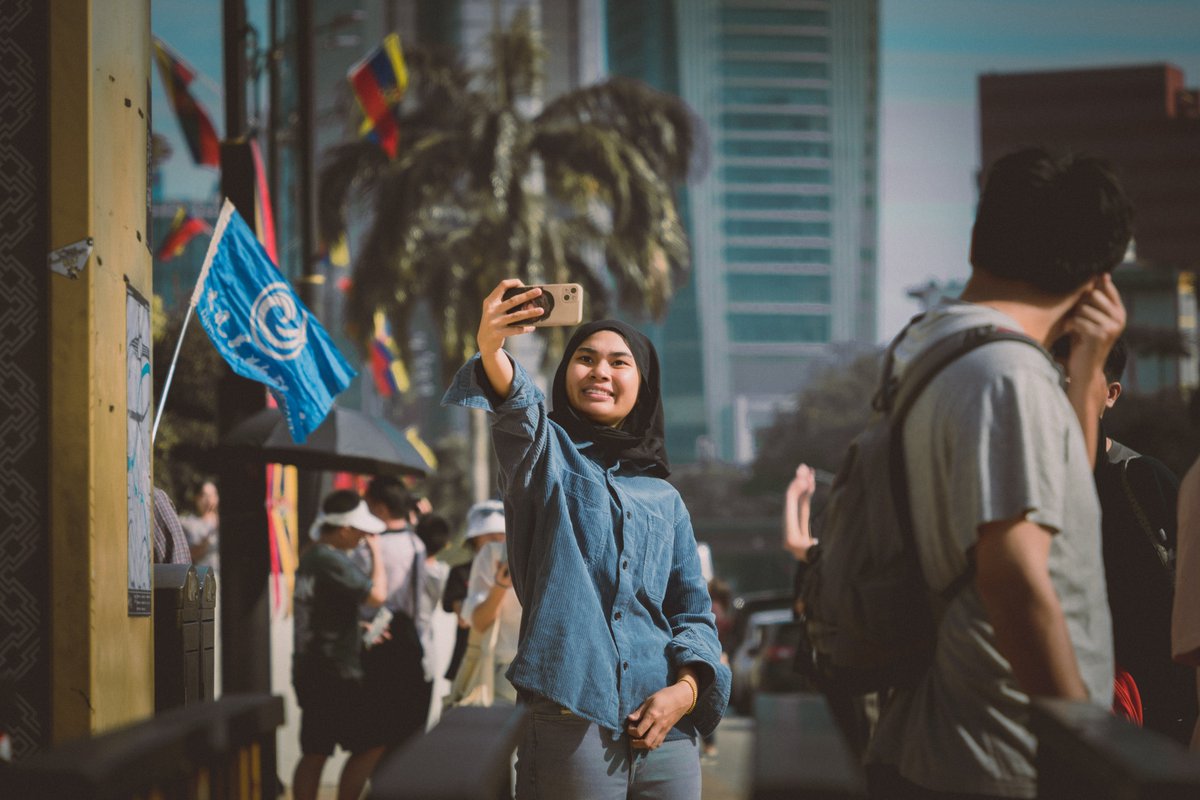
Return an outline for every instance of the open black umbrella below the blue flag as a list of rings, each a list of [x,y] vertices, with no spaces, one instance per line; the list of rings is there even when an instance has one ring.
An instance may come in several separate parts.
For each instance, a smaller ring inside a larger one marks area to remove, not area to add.
[[[420,475],[431,465],[386,420],[335,405],[302,445],[292,440],[277,408],[248,416],[221,440],[221,449],[268,464],[364,475]]]

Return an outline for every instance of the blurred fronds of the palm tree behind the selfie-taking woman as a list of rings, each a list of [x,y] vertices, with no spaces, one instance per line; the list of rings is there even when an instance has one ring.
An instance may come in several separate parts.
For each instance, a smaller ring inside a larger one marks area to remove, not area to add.
[[[343,234],[348,203],[372,206],[347,299],[355,338],[383,311],[407,360],[404,332],[427,301],[450,372],[474,351],[482,299],[512,276],[581,283],[593,317],[664,315],[689,266],[673,191],[692,168],[695,116],[624,78],[532,112],[544,64],[527,13],[492,35],[481,72],[410,48],[397,157],[366,140],[326,152],[323,239]]]

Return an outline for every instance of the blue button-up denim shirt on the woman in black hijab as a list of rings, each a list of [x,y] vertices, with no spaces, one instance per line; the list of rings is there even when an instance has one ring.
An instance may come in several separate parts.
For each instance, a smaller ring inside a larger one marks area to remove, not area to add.
[[[498,398],[479,356],[443,404],[492,413],[509,569],[524,613],[508,679],[622,734],[625,717],[691,664],[696,708],[676,726],[710,733],[730,697],[708,587],[683,499],[634,464],[606,467],[553,422],[514,362]]]

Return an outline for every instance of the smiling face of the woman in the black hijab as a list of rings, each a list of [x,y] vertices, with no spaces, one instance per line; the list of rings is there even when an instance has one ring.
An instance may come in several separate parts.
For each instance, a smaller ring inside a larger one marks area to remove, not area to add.
[[[566,399],[593,422],[620,427],[637,403],[642,377],[624,337],[596,331],[575,349],[566,366]]]

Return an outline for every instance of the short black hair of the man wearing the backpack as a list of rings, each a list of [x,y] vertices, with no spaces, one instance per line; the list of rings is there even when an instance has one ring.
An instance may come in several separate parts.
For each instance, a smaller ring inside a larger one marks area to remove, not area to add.
[[[1051,295],[1074,291],[1124,258],[1133,209],[1112,167],[1040,148],[988,173],[971,233],[971,265]]]

